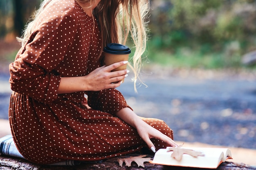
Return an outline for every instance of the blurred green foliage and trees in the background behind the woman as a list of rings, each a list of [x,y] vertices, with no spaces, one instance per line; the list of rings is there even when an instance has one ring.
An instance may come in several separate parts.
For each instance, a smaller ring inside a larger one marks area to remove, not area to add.
[[[0,39],[20,35],[40,0],[0,0]],[[256,0],[151,0],[146,63],[172,68],[245,68],[256,50]],[[4,50],[4,46],[0,48]],[[4,55],[13,60],[13,52]]]

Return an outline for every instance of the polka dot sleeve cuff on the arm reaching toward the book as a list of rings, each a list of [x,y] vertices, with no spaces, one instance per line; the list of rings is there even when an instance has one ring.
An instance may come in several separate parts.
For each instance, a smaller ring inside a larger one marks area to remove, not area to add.
[[[129,107],[124,96],[117,89],[105,89],[98,92],[88,92],[88,105],[92,109],[115,115],[117,111]]]

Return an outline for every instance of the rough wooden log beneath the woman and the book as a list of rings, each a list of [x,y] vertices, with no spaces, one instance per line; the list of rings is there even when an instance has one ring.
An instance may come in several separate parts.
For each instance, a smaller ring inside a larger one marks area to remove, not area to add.
[[[126,155],[124,157],[137,156]],[[121,157],[121,158],[124,158]],[[153,157],[153,155],[152,155]],[[4,170],[205,170],[202,168],[187,168],[187,167],[171,167],[156,165],[149,162],[144,163],[143,167],[137,167],[135,162],[132,162],[131,167],[119,166],[118,158],[112,158],[104,160],[102,163],[81,163],[78,166],[49,166],[49,165],[37,165],[31,163],[25,159],[19,159],[14,157],[7,157],[0,155],[0,169]],[[248,166],[244,163],[224,162],[221,163],[217,170],[256,170],[254,166]]]

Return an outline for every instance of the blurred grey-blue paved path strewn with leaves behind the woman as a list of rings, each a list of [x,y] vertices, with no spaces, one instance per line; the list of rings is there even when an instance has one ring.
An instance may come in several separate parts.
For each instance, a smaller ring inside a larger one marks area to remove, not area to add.
[[[256,149],[256,81],[146,79],[138,94],[126,81],[119,90],[144,117],[164,119],[175,139]]]

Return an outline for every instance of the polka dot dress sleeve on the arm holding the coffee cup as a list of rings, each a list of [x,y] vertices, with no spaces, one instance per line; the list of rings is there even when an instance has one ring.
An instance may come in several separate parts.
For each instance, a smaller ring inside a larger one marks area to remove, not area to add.
[[[11,89],[40,102],[58,97],[61,76],[54,68],[63,60],[76,33],[75,17],[67,13],[36,26],[27,44],[9,65]],[[73,24],[73,25],[72,25]]]

